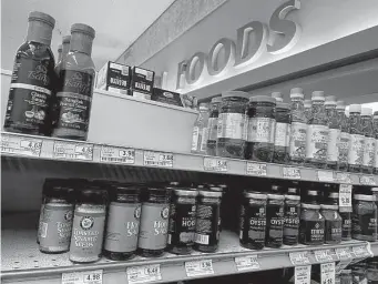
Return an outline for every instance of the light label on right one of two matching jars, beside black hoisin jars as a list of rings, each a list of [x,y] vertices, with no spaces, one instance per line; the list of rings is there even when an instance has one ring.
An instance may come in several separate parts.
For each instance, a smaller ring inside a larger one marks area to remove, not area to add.
[[[143,203],[137,246],[144,250],[164,250],[168,230],[170,205]]]

